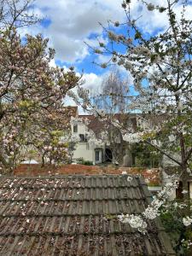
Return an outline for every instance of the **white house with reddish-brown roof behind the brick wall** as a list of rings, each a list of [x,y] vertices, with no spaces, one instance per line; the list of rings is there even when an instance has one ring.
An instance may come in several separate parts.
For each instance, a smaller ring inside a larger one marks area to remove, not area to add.
[[[79,119],[88,119],[89,124],[85,125],[79,123],[72,125],[72,133],[80,138],[80,142],[73,151],[73,160],[84,158],[84,160],[91,161],[94,165],[102,162],[122,163],[123,156],[130,154],[131,162],[134,164],[135,157],[131,154],[128,146],[129,143],[125,142],[119,128],[110,125],[110,120],[118,121],[119,124],[127,127],[128,131],[137,131],[137,127],[144,128],[150,126],[151,128],[158,125],[160,120],[165,119],[165,116],[154,115],[152,118],[148,114],[143,113],[108,113],[109,122],[106,119],[99,119],[94,115],[81,115],[77,113]],[[102,131],[108,131],[108,141],[102,140],[102,143],[91,144],[87,140],[87,134],[93,131],[97,138],[101,138]],[[131,166],[131,164],[130,164]]]

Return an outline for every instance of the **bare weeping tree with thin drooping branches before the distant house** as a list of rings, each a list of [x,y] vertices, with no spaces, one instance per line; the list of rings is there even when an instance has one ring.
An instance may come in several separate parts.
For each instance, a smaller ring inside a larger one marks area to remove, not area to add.
[[[121,163],[124,151],[125,143],[118,127],[113,125],[113,119],[117,119],[119,122],[126,123],[128,116],[124,113],[127,108],[127,99],[125,96],[128,95],[129,91],[129,79],[123,77],[118,69],[113,69],[108,76],[102,80],[101,91],[93,91],[90,94],[91,103],[98,109],[101,109],[106,114],[106,120],[100,122],[102,131],[108,131],[103,136],[103,132],[98,131],[97,137],[104,140],[108,148],[112,152],[113,163]],[[124,97],[122,97],[124,96]],[[100,129],[100,130],[101,130]],[[106,155],[110,158],[109,155]]]

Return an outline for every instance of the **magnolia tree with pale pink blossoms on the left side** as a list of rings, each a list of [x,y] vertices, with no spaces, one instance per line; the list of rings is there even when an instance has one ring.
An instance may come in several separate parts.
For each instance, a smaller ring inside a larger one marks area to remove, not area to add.
[[[73,70],[64,72],[62,68],[49,66],[55,51],[47,48],[48,39],[41,35],[20,38],[15,26],[26,26],[34,20],[26,13],[31,1],[17,9],[19,3],[22,2],[1,2],[0,167],[3,170],[12,170],[33,150],[50,163],[67,159],[67,143],[61,143],[60,137],[69,128],[71,110],[64,108],[63,98],[80,79]]]

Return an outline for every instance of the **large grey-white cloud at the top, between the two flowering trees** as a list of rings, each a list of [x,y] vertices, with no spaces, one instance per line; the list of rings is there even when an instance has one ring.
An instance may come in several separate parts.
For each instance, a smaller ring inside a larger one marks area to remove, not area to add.
[[[56,50],[56,59],[74,62],[83,60],[89,55],[84,40],[91,34],[101,34],[102,26],[110,19],[119,20],[123,17],[120,8],[121,0],[37,0],[36,9],[46,19],[51,20],[47,28],[42,28],[44,35],[50,38],[51,46]],[[39,29],[39,27],[38,27]]]

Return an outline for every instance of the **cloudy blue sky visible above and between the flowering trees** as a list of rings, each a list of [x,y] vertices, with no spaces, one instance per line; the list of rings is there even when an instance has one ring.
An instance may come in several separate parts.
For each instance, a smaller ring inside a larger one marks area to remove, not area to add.
[[[163,6],[166,0],[150,2]],[[51,61],[51,65],[73,66],[77,73],[84,70],[84,87],[95,90],[101,88],[102,79],[108,75],[109,70],[92,62],[106,62],[108,57],[94,55],[84,42],[92,46],[98,45],[97,39],[108,43],[102,26],[108,26],[108,20],[125,22],[125,11],[121,3],[122,0],[36,0],[34,12],[42,20],[35,26],[26,28],[24,32],[40,32],[45,38],[49,38],[49,46],[55,49],[55,59]],[[178,5],[178,16],[180,11],[181,5]],[[190,17],[191,13],[192,8],[189,5],[186,15]],[[131,14],[134,19],[140,17],[137,26],[146,35],[165,31],[168,24],[165,13],[149,12],[137,0],[131,1]]]

